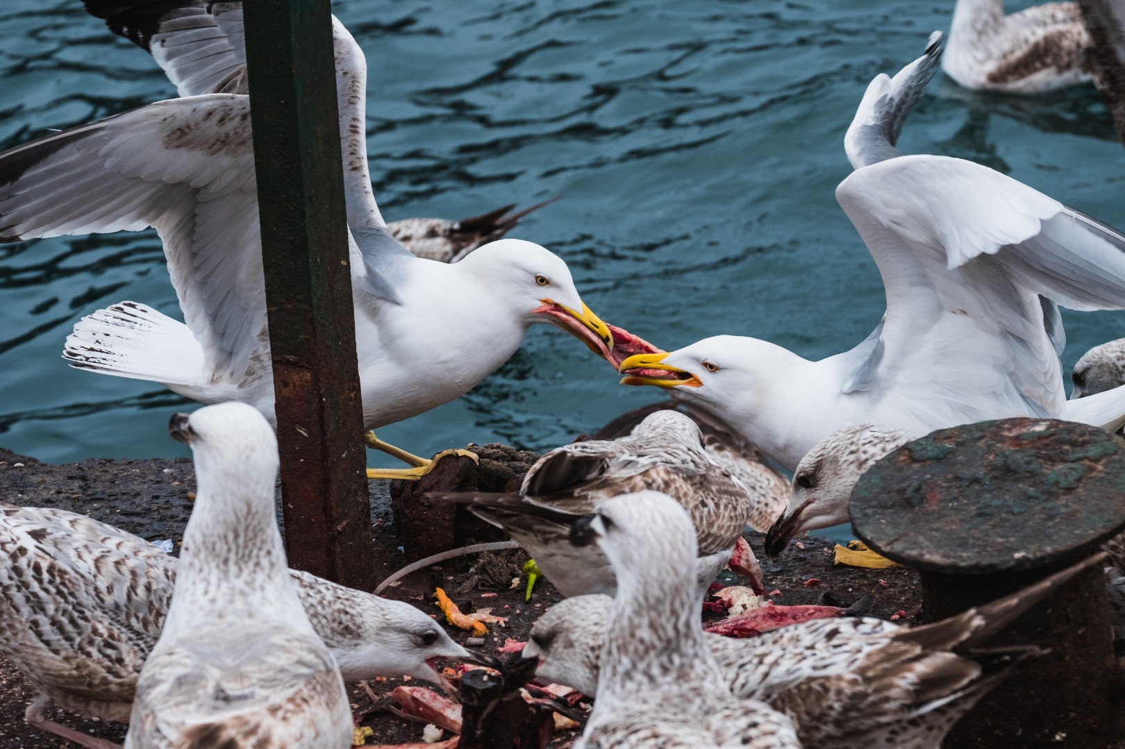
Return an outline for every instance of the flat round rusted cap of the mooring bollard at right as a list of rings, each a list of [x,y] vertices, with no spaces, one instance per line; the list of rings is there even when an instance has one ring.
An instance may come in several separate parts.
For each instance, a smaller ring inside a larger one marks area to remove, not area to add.
[[[1125,527],[1125,441],[1040,418],[939,430],[864,473],[850,515],[867,545],[921,570],[991,574],[1079,558]]]

